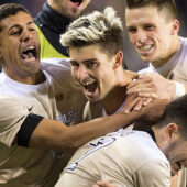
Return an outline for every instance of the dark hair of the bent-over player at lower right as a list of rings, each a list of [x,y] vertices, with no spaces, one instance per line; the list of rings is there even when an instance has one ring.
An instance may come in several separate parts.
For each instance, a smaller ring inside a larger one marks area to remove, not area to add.
[[[157,128],[176,123],[184,139],[187,140],[187,95],[172,101],[156,123]]]

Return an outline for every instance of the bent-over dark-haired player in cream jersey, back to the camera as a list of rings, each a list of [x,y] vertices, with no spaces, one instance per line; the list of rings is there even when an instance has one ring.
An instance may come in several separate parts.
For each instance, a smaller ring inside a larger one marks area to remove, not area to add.
[[[152,128],[124,130],[76,151],[55,187],[170,187],[170,174],[187,167],[187,95],[172,101]]]

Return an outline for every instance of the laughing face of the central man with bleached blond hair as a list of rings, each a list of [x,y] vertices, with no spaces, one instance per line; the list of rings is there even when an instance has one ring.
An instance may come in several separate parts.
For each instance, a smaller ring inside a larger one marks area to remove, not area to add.
[[[70,47],[72,74],[81,85],[88,100],[100,101],[116,85],[116,56],[103,53],[99,45]]]

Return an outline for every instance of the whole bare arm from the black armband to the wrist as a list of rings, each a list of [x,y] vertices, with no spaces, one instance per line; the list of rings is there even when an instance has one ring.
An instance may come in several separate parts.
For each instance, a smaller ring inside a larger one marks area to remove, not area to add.
[[[29,146],[75,151],[92,139],[131,124],[139,117],[140,113],[138,112],[117,113],[74,127],[66,127],[61,122],[43,119],[32,133]]]

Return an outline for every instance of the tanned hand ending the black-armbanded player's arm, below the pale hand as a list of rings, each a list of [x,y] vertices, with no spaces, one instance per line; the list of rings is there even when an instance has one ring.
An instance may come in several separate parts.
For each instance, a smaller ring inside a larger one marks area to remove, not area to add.
[[[156,122],[168,103],[168,99],[154,99],[148,106],[140,110],[140,119],[147,122]]]

